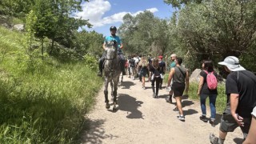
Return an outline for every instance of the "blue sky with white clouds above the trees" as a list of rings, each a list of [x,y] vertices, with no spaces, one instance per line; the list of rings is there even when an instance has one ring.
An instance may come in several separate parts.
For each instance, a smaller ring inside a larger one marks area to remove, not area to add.
[[[144,10],[150,10],[158,18],[170,18],[174,10],[163,0],[90,0],[82,3],[82,11],[76,18],[89,19],[93,25],[86,30],[95,30],[103,36],[110,35],[110,26],[122,25],[125,14],[136,16]]]

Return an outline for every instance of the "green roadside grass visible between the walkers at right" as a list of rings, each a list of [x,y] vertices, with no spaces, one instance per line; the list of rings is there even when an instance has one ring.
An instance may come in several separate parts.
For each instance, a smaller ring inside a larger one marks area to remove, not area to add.
[[[167,83],[168,74],[165,74],[164,82]],[[188,96],[190,99],[194,101],[199,101],[198,98],[198,83],[190,82],[190,89],[188,92]],[[206,105],[209,106],[209,98],[206,99]],[[216,99],[216,111],[220,114],[225,110],[226,107],[226,93],[225,93],[225,84],[218,84],[218,96]]]

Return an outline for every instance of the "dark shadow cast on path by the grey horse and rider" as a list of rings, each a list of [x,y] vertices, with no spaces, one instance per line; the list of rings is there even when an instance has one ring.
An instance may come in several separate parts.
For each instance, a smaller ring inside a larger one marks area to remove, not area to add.
[[[142,112],[138,110],[138,106],[141,106],[142,103],[128,94],[119,94],[118,96],[118,110],[127,111],[126,118],[142,118]]]

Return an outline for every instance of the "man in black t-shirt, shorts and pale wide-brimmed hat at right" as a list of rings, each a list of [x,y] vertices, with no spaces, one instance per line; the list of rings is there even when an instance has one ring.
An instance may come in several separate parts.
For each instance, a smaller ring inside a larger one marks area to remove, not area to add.
[[[229,72],[226,78],[226,109],[219,127],[219,138],[210,134],[210,142],[222,144],[227,132],[233,132],[240,126],[244,139],[251,122],[251,112],[256,106],[256,76],[239,64],[238,58],[229,56],[219,65]]]

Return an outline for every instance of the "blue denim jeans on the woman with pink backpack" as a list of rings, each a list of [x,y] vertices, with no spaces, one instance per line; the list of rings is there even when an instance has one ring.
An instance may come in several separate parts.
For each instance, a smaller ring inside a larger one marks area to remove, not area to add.
[[[216,102],[217,94],[200,94],[200,104],[201,104],[202,114],[206,115],[206,98],[208,96],[210,101],[210,118],[215,119],[215,116],[216,116],[215,102]]]

